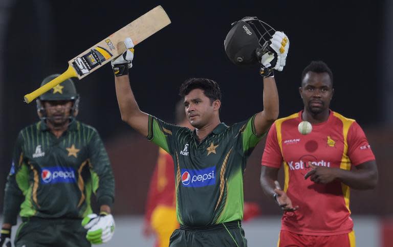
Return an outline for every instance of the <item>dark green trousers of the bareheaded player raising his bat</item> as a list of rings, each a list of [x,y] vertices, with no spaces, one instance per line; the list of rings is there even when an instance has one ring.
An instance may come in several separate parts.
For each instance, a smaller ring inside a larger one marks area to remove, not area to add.
[[[186,227],[174,230],[169,247],[247,247],[247,239],[240,221],[207,227]]]

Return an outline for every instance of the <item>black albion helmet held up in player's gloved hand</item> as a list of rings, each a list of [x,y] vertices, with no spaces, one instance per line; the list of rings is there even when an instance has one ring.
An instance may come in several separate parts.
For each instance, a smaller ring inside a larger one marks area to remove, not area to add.
[[[269,24],[257,17],[244,17],[232,23],[224,40],[225,53],[236,65],[250,65],[260,62],[270,44],[274,32]]]

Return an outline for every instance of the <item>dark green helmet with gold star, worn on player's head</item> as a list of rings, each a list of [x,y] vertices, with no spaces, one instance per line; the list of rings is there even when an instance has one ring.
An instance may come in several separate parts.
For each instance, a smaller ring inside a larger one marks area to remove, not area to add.
[[[41,86],[47,84],[48,82],[55,79],[59,75],[60,74],[54,74],[46,77],[41,82]],[[38,116],[40,117],[40,119],[46,119],[45,108],[43,107],[41,101],[57,101],[57,100],[74,101],[74,104],[71,109],[70,117],[72,119],[76,117],[79,110],[79,95],[76,92],[76,88],[73,80],[67,79],[61,82],[60,84],[54,86],[53,88],[51,88],[45,94],[42,94],[38,97],[36,103],[37,103]]]

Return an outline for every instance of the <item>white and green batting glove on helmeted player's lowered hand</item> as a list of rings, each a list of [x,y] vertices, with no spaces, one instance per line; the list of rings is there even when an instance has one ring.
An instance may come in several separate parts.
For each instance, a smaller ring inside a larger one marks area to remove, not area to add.
[[[86,239],[92,244],[106,243],[115,232],[115,220],[112,214],[89,214],[82,220],[82,226],[88,230]]]

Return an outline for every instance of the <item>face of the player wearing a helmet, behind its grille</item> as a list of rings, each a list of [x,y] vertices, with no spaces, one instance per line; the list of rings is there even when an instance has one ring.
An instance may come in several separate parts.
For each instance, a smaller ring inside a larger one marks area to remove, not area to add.
[[[47,120],[54,126],[62,126],[70,121],[70,113],[73,102],[69,100],[44,101],[43,107],[47,114]]]

